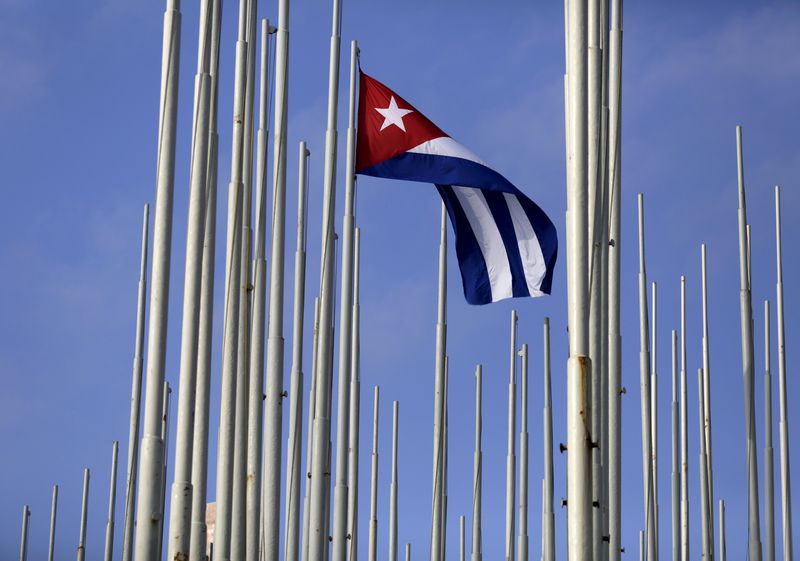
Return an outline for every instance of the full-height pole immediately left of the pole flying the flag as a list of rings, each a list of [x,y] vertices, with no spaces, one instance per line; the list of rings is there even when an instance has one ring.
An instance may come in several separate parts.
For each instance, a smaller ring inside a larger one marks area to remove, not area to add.
[[[329,392],[333,361],[333,300],[335,290],[336,248],[334,210],[336,205],[336,146],[337,116],[339,107],[339,55],[342,14],[340,0],[333,0],[331,41],[328,59],[328,122],[325,131],[325,168],[323,176],[322,245],[320,264],[320,314],[321,326],[318,341],[319,357],[314,373],[317,379],[314,404],[314,439],[311,460],[311,511],[308,529],[308,558],[322,561],[327,550],[327,509],[330,500],[330,472],[327,469],[328,445],[331,430]],[[327,475],[326,475],[327,474]],[[306,538],[304,538],[306,539]]]

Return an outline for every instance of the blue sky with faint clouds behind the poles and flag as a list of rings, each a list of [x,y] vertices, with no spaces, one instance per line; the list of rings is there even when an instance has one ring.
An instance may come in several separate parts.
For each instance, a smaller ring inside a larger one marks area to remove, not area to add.
[[[230,177],[236,3],[224,11],[220,71],[220,227]],[[296,147],[312,152],[307,293],[318,291],[330,6],[296,2],[289,86],[290,227]],[[274,2],[259,13],[276,18]],[[0,556],[19,547],[22,505],[31,505],[30,558],[44,556],[50,489],[60,487],[57,558],[78,538],[82,469],[92,469],[88,552],[102,551],[111,442],[127,453],[141,205],[154,197],[161,3],[0,1]],[[196,3],[183,6],[180,136],[176,167],[167,378],[177,383],[189,172]],[[649,280],[659,283],[661,544],[669,547],[669,330],[678,327],[679,275],[688,286],[689,454],[692,550],[699,555],[696,378],[700,355],[700,243],[708,245],[715,498],[728,505],[728,551],[746,540],[743,393],[739,342],[734,126],[744,127],[748,218],[753,228],[753,309],[759,475],[763,477],[764,299],[775,298],[773,186],[783,186],[789,402],[800,401],[800,4],[638,2],[625,13],[623,68],[623,536],[635,555],[642,526],[636,300],[636,193],[645,194]],[[405,4],[345,2],[343,43],[359,40],[365,71],[443,130],[493,163],[555,222],[564,242],[563,9],[504,0]],[[346,127],[342,57],[340,153]],[[272,158],[270,154],[270,159]],[[344,158],[341,158],[342,169]],[[340,177],[339,185],[343,185]],[[400,543],[427,552],[433,414],[435,278],[439,200],[431,186],[362,178],[362,419],[381,386],[379,551],[387,547],[391,405],[400,401]],[[341,194],[341,189],[340,189]],[[337,216],[342,208],[341,196]],[[340,220],[340,219],[337,219]],[[288,236],[287,254],[294,252]],[[451,234],[452,240],[452,234]],[[563,246],[563,245],[562,245]],[[217,255],[224,255],[223,240]],[[218,260],[218,265],[221,261]],[[553,296],[470,307],[451,249],[448,344],[451,372],[449,557],[460,514],[471,512],[473,371],[484,365],[484,552],[503,551],[508,316],[520,315],[531,347],[530,536],[539,550],[541,324],[552,318],[554,439],[566,440],[564,253]],[[218,267],[219,268],[219,267]],[[293,270],[287,267],[287,287]],[[220,275],[221,278],[221,269]],[[221,300],[222,282],[217,282]],[[291,290],[287,290],[291,296]],[[307,333],[311,306],[307,306]],[[774,308],[773,308],[774,310]],[[215,316],[218,417],[221,307]],[[774,336],[773,314],[773,336]],[[290,314],[286,317],[287,349]],[[774,337],[773,337],[774,339]],[[310,345],[306,345],[310,349]],[[774,350],[773,372],[777,374]],[[306,357],[310,364],[310,356]],[[288,355],[287,355],[288,365]],[[777,375],[775,407],[777,414]],[[288,368],[286,377],[288,387]],[[174,394],[176,395],[176,394]],[[173,406],[174,407],[174,406]],[[174,413],[173,408],[173,413]],[[800,426],[790,411],[797,442]],[[173,425],[174,429],[174,425]],[[777,421],[774,422],[776,464]],[[362,450],[368,442],[362,433]],[[797,452],[796,449],[794,450]],[[212,428],[212,465],[216,434]],[[367,454],[361,458],[367,512]],[[556,500],[566,458],[556,455]],[[795,459],[793,479],[800,469]],[[169,477],[172,477],[170,468]],[[215,473],[212,468],[210,473]],[[122,480],[122,470],[120,473]],[[776,474],[776,483],[779,481]],[[797,487],[797,486],[795,486]],[[213,481],[209,485],[213,493]],[[123,485],[118,487],[119,495]],[[779,486],[776,486],[779,493]],[[795,493],[796,495],[797,493]],[[763,493],[762,493],[763,496]],[[795,496],[794,504],[797,505]],[[121,507],[121,500],[118,501]],[[797,508],[794,509],[797,512]],[[117,509],[118,528],[122,509]],[[779,511],[776,515],[780,527]],[[565,511],[556,512],[563,555]],[[795,522],[795,535],[798,533]],[[118,532],[119,536],[119,532]],[[117,545],[120,544],[117,539]],[[777,537],[780,551],[780,534]],[[117,552],[119,550],[117,549]],[[383,553],[382,553],[383,554]],[[733,553],[732,553],[733,554]]]

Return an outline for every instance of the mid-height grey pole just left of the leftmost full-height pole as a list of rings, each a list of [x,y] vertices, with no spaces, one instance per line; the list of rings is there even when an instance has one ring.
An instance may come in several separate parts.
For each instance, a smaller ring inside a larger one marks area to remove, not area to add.
[[[131,415],[128,429],[128,464],[125,478],[125,516],[122,530],[122,561],[131,561],[133,551],[133,515],[136,508],[136,472],[139,461],[139,416],[142,397],[142,348],[144,346],[145,298],[147,297],[147,238],[150,228],[150,205],[144,205],[142,218],[142,252],[139,266],[139,284],[136,297],[136,343],[133,351],[133,380],[131,382]],[[54,487],[54,496],[58,494]],[[55,526],[53,526],[55,528]],[[52,561],[52,550],[48,561]]]

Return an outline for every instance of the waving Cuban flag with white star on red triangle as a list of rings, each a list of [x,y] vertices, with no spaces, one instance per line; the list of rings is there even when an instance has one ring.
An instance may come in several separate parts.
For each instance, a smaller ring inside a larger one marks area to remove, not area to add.
[[[402,97],[360,79],[356,173],[436,185],[467,302],[550,294],[558,239],[542,209]]]

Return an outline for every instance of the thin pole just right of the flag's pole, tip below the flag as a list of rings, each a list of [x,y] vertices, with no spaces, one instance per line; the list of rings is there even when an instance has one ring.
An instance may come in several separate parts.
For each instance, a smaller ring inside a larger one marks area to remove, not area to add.
[[[353,328],[350,347],[350,459],[348,461],[347,531],[350,534],[348,561],[358,559],[358,458],[359,424],[361,416],[361,311],[359,290],[361,281],[361,228],[355,229],[353,248]]]

